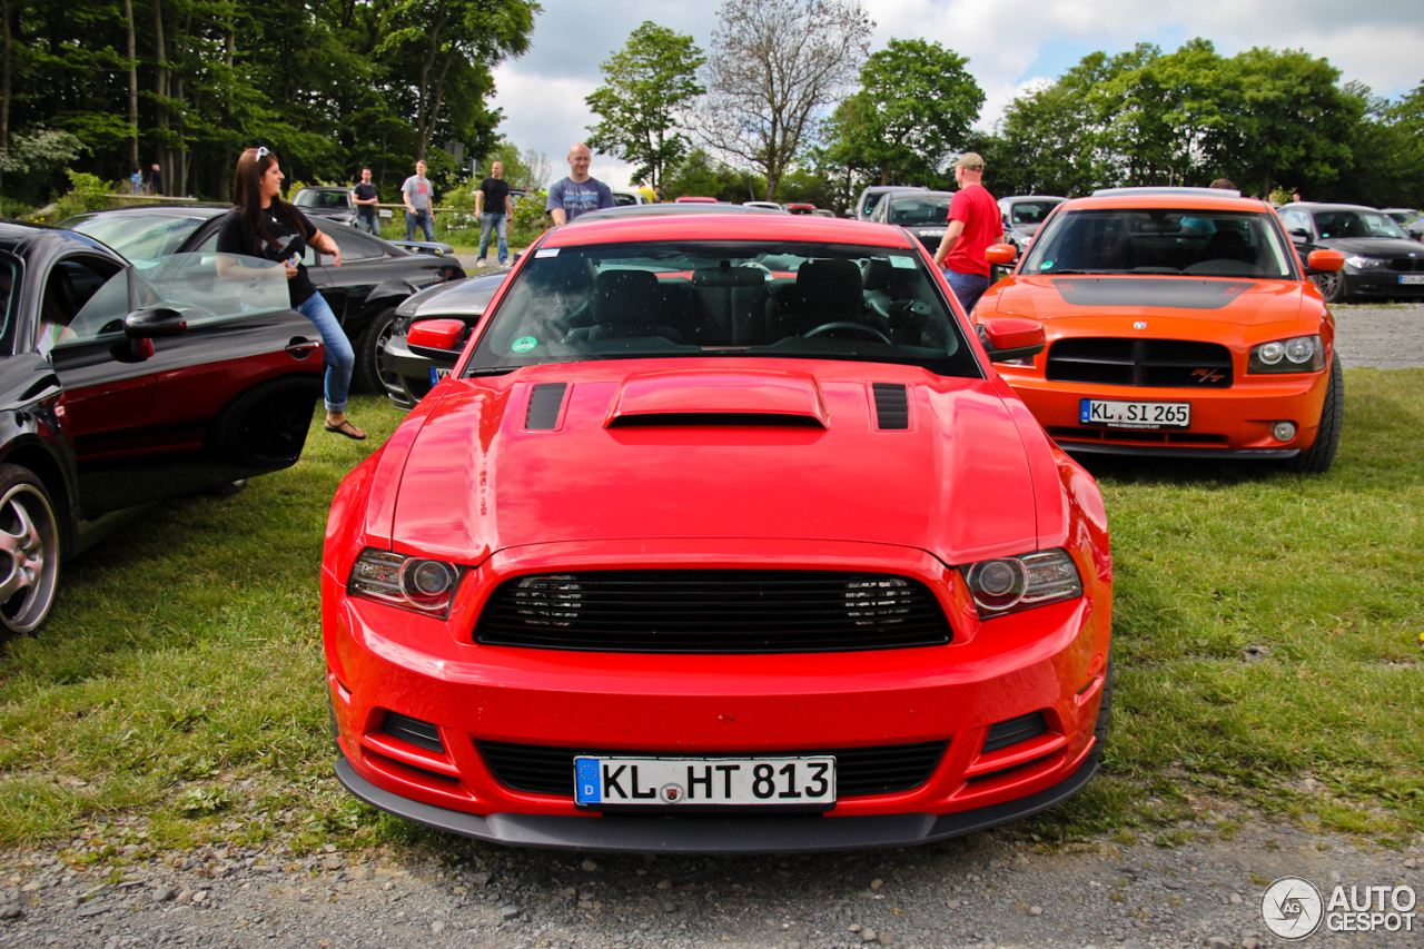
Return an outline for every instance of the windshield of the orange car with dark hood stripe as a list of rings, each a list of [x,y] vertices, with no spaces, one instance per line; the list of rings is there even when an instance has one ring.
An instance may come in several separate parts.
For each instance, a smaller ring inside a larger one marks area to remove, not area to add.
[[[1293,259],[1273,214],[1092,208],[1044,225],[1018,272],[1284,279],[1294,276]]]

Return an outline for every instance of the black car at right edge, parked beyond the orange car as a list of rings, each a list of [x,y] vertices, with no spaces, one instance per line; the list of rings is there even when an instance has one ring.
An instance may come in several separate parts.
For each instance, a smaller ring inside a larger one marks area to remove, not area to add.
[[[1350,296],[1424,298],[1424,247],[1383,211],[1358,204],[1297,202],[1282,207],[1279,214],[1302,259],[1316,248],[1344,254],[1343,271],[1312,275],[1327,304]]]

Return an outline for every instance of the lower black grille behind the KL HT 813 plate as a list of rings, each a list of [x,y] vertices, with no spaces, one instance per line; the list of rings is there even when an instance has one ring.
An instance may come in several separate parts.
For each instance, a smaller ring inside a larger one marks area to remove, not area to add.
[[[790,758],[796,755],[836,757],[836,797],[852,798],[866,794],[897,794],[917,788],[930,779],[944,755],[947,741],[926,741],[914,745],[880,745],[876,748],[836,748],[832,751],[595,751],[590,748],[555,748],[550,745],[517,745],[503,741],[478,741],[476,745],[496,779],[527,794],[574,797],[574,755],[594,757],[726,757]]]

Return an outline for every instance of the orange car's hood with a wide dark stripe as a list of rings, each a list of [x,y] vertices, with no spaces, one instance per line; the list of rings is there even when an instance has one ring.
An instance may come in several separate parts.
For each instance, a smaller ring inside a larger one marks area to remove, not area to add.
[[[995,289],[984,302],[993,302],[997,312],[1049,325],[1096,316],[1152,316],[1253,326],[1297,319],[1302,308],[1297,284],[1252,278],[1011,276]]]

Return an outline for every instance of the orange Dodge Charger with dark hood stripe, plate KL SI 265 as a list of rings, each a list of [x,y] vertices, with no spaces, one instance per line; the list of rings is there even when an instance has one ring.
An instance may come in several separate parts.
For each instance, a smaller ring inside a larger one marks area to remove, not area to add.
[[[1058,205],[974,316],[1044,325],[1048,348],[998,372],[1068,452],[1326,472],[1344,386],[1307,275],[1343,265],[1303,265],[1274,209],[1236,191],[1115,188]]]

